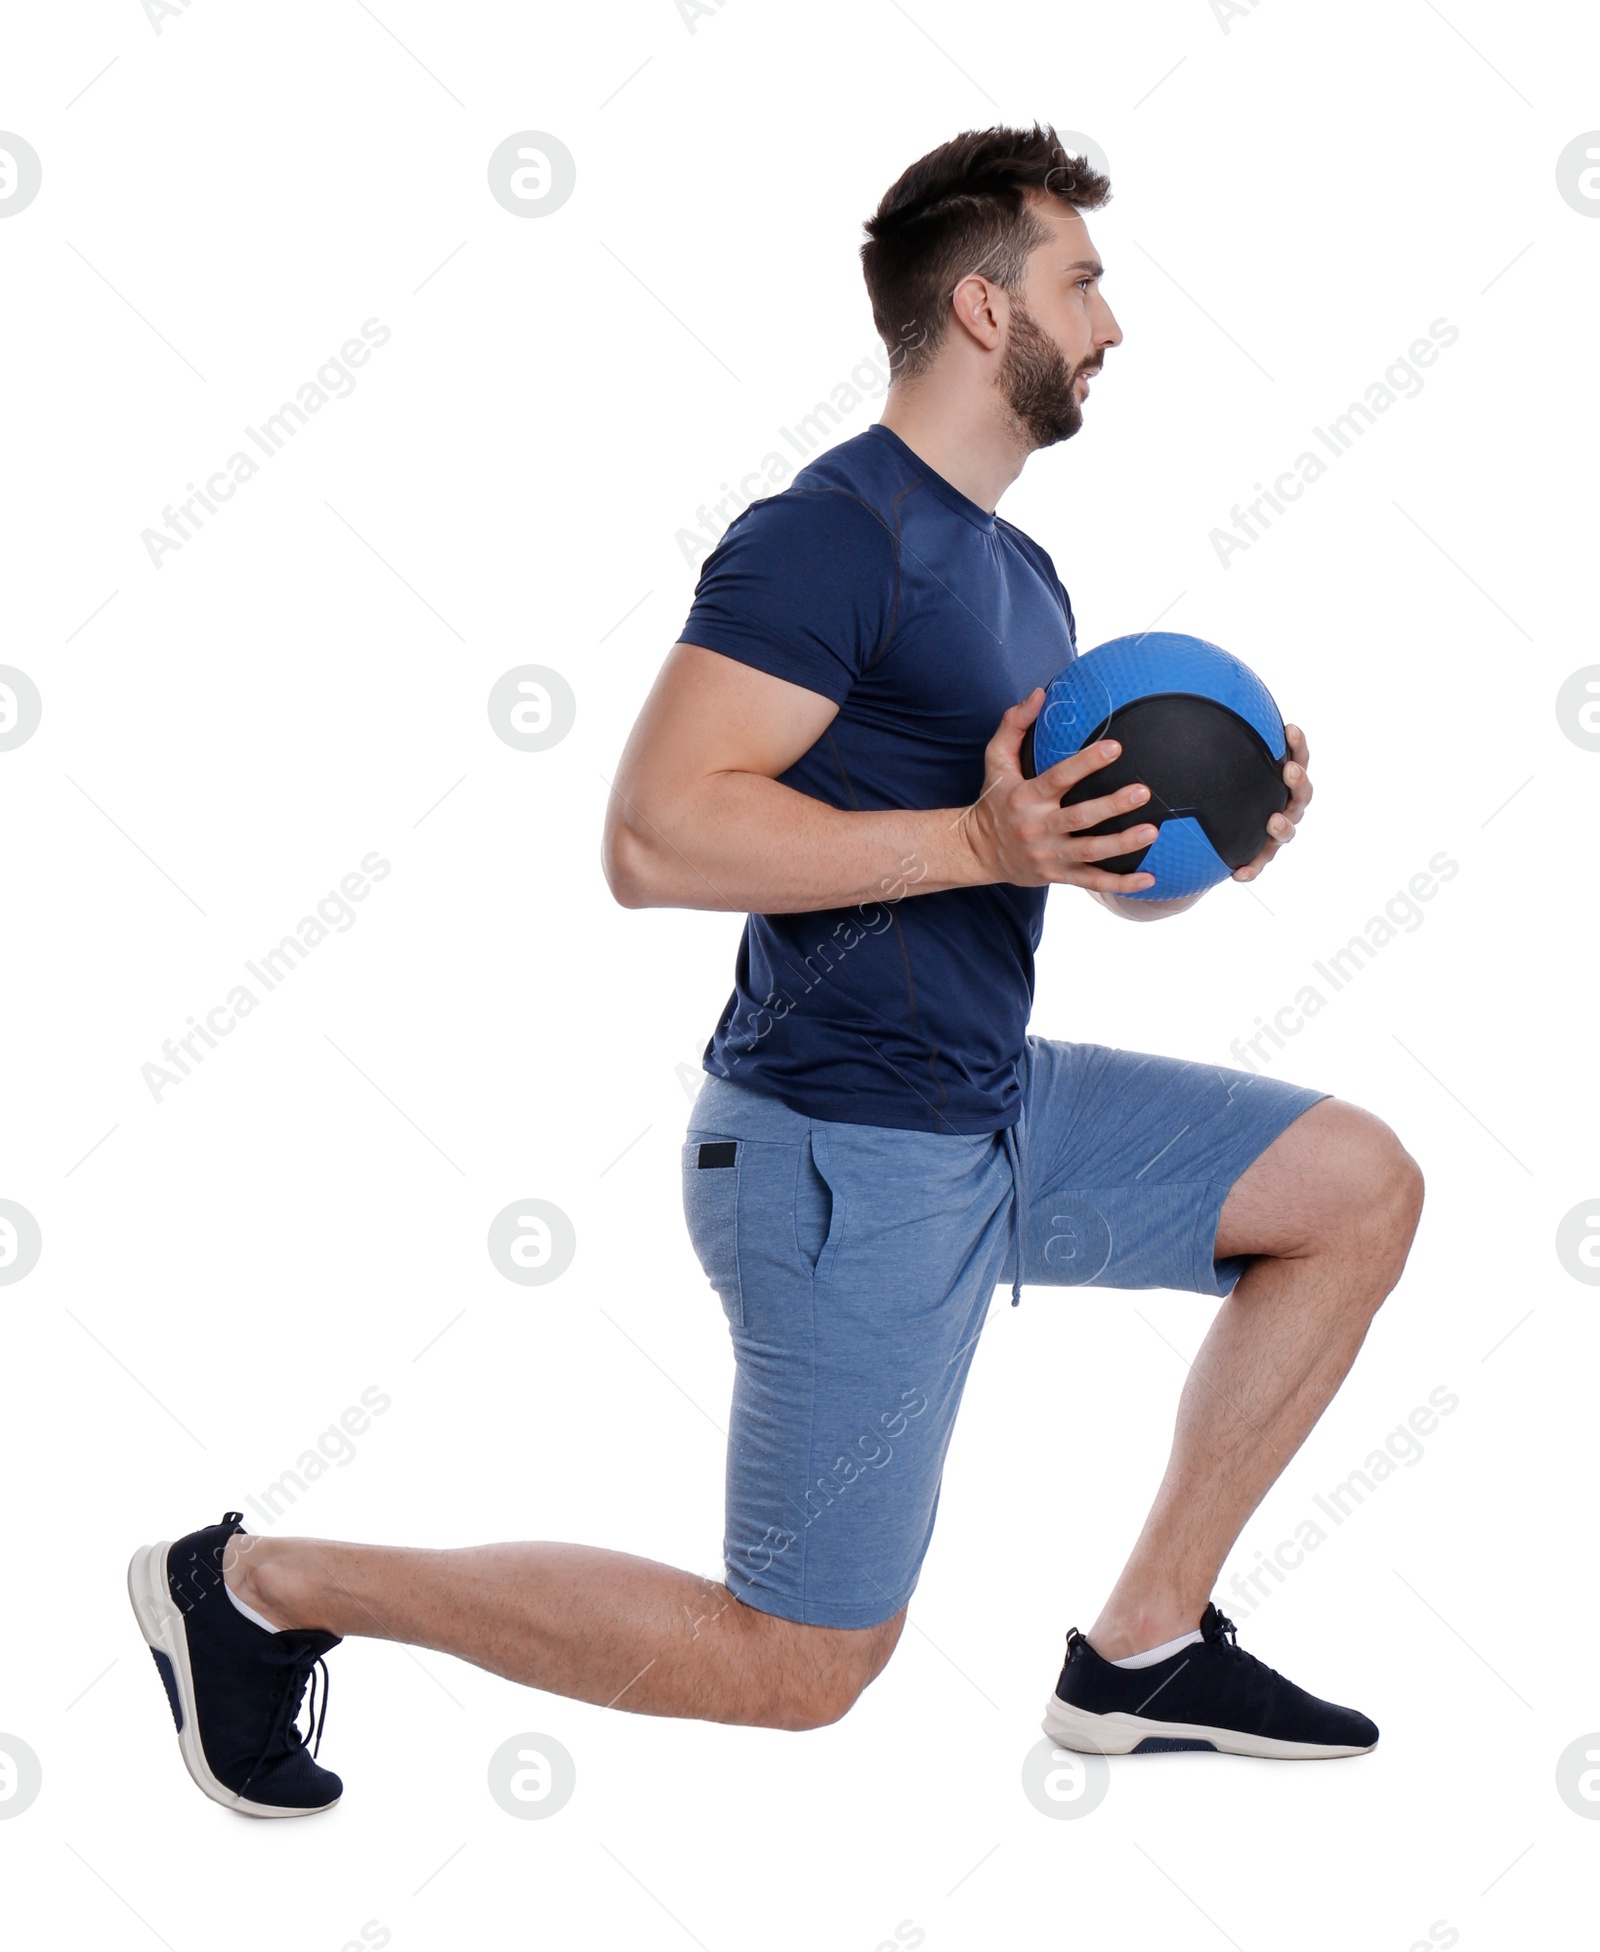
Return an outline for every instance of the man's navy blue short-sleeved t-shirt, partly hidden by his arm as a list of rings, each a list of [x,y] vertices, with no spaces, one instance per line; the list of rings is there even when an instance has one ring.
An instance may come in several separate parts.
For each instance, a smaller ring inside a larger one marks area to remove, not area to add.
[[[780,779],[862,812],[970,806],[1001,712],[1077,654],[1038,543],[880,426],[736,517],[681,640],[833,699]],[[917,894],[915,873],[882,900],[749,915],[704,1068],[814,1118],[1015,1124],[1048,890]]]

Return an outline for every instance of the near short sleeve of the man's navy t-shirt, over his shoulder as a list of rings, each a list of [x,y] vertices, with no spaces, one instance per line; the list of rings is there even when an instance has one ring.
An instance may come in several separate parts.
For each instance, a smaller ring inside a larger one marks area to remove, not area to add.
[[[866,502],[790,488],[730,523],[679,640],[843,705],[886,646],[896,586],[894,537]]]

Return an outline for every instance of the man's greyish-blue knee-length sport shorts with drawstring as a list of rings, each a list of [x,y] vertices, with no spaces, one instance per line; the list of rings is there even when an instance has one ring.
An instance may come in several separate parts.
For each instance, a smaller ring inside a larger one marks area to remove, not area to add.
[[[683,1206],[738,1362],[738,1599],[818,1626],[900,1612],[995,1288],[1227,1294],[1247,1263],[1214,1259],[1223,1200],[1321,1097],[1028,1038],[1019,1124],[964,1136],[810,1118],[706,1078]]]

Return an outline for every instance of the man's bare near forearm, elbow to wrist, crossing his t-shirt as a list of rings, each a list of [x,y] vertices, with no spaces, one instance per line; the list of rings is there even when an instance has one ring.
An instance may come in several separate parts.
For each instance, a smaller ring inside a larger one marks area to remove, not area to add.
[[[605,871],[628,908],[806,914],[991,878],[964,808],[841,812],[759,773],[714,773],[667,806],[613,800]]]

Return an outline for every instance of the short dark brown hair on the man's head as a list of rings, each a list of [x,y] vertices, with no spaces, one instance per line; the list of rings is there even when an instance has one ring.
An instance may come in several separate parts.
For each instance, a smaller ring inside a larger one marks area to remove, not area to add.
[[[1067,154],[1048,123],[1034,123],[968,129],[884,193],[864,224],[860,269],[896,379],[931,365],[964,277],[981,271],[1005,291],[1022,283],[1028,254],[1044,242],[1030,191],[1097,211],[1110,199],[1110,180]]]

